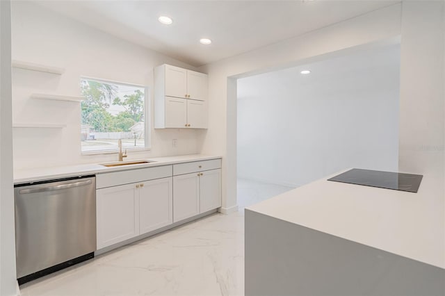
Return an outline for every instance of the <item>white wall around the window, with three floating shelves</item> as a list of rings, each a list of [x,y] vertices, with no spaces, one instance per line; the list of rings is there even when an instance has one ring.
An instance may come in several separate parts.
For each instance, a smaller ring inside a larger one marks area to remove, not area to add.
[[[79,95],[80,76],[88,76],[147,85],[152,95],[156,65],[193,69],[35,3],[14,1],[12,22],[13,59],[65,68],[61,76],[13,69],[13,121],[67,124],[64,129],[13,129],[15,169],[117,160],[116,154],[81,156],[79,103],[31,99],[31,93]],[[195,154],[203,132],[152,129],[151,151],[130,151],[129,159]],[[177,139],[175,148],[172,139]]]

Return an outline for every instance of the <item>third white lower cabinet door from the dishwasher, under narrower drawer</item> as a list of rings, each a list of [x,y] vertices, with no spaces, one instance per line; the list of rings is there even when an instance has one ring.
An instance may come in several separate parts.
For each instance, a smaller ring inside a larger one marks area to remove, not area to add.
[[[200,213],[199,173],[173,176],[173,222]]]

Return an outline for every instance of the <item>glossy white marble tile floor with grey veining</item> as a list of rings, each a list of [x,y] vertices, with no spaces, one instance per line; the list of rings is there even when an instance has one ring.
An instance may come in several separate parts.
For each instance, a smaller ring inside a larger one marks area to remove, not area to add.
[[[216,213],[25,283],[23,296],[243,295],[244,211],[291,188],[240,180],[240,211]]]

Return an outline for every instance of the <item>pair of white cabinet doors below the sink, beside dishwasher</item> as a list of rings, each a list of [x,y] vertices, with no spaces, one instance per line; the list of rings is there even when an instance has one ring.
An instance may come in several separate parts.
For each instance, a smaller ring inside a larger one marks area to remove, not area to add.
[[[97,249],[172,224],[172,177],[96,190]]]

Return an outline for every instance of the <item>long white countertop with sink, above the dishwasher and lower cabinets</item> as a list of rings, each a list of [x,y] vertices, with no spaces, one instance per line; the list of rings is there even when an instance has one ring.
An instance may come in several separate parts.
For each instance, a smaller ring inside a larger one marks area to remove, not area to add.
[[[97,163],[84,165],[65,165],[60,167],[40,167],[31,170],[14,170],[14,183],[30,183],[51,179],[60,179],[70,176],[85,176],[88,174],[103,174],[106,172],[118,172],[123,170],[135,170],[145,167],[158,167],[160,165],[172,165],[175,163],[188,163],[191,161],[207,161],[221,158],[221,156],[208,156],[202,154],[165,156],[129,161],[153,161],[140,165],[123,165],[120,167],[105,167]]]

